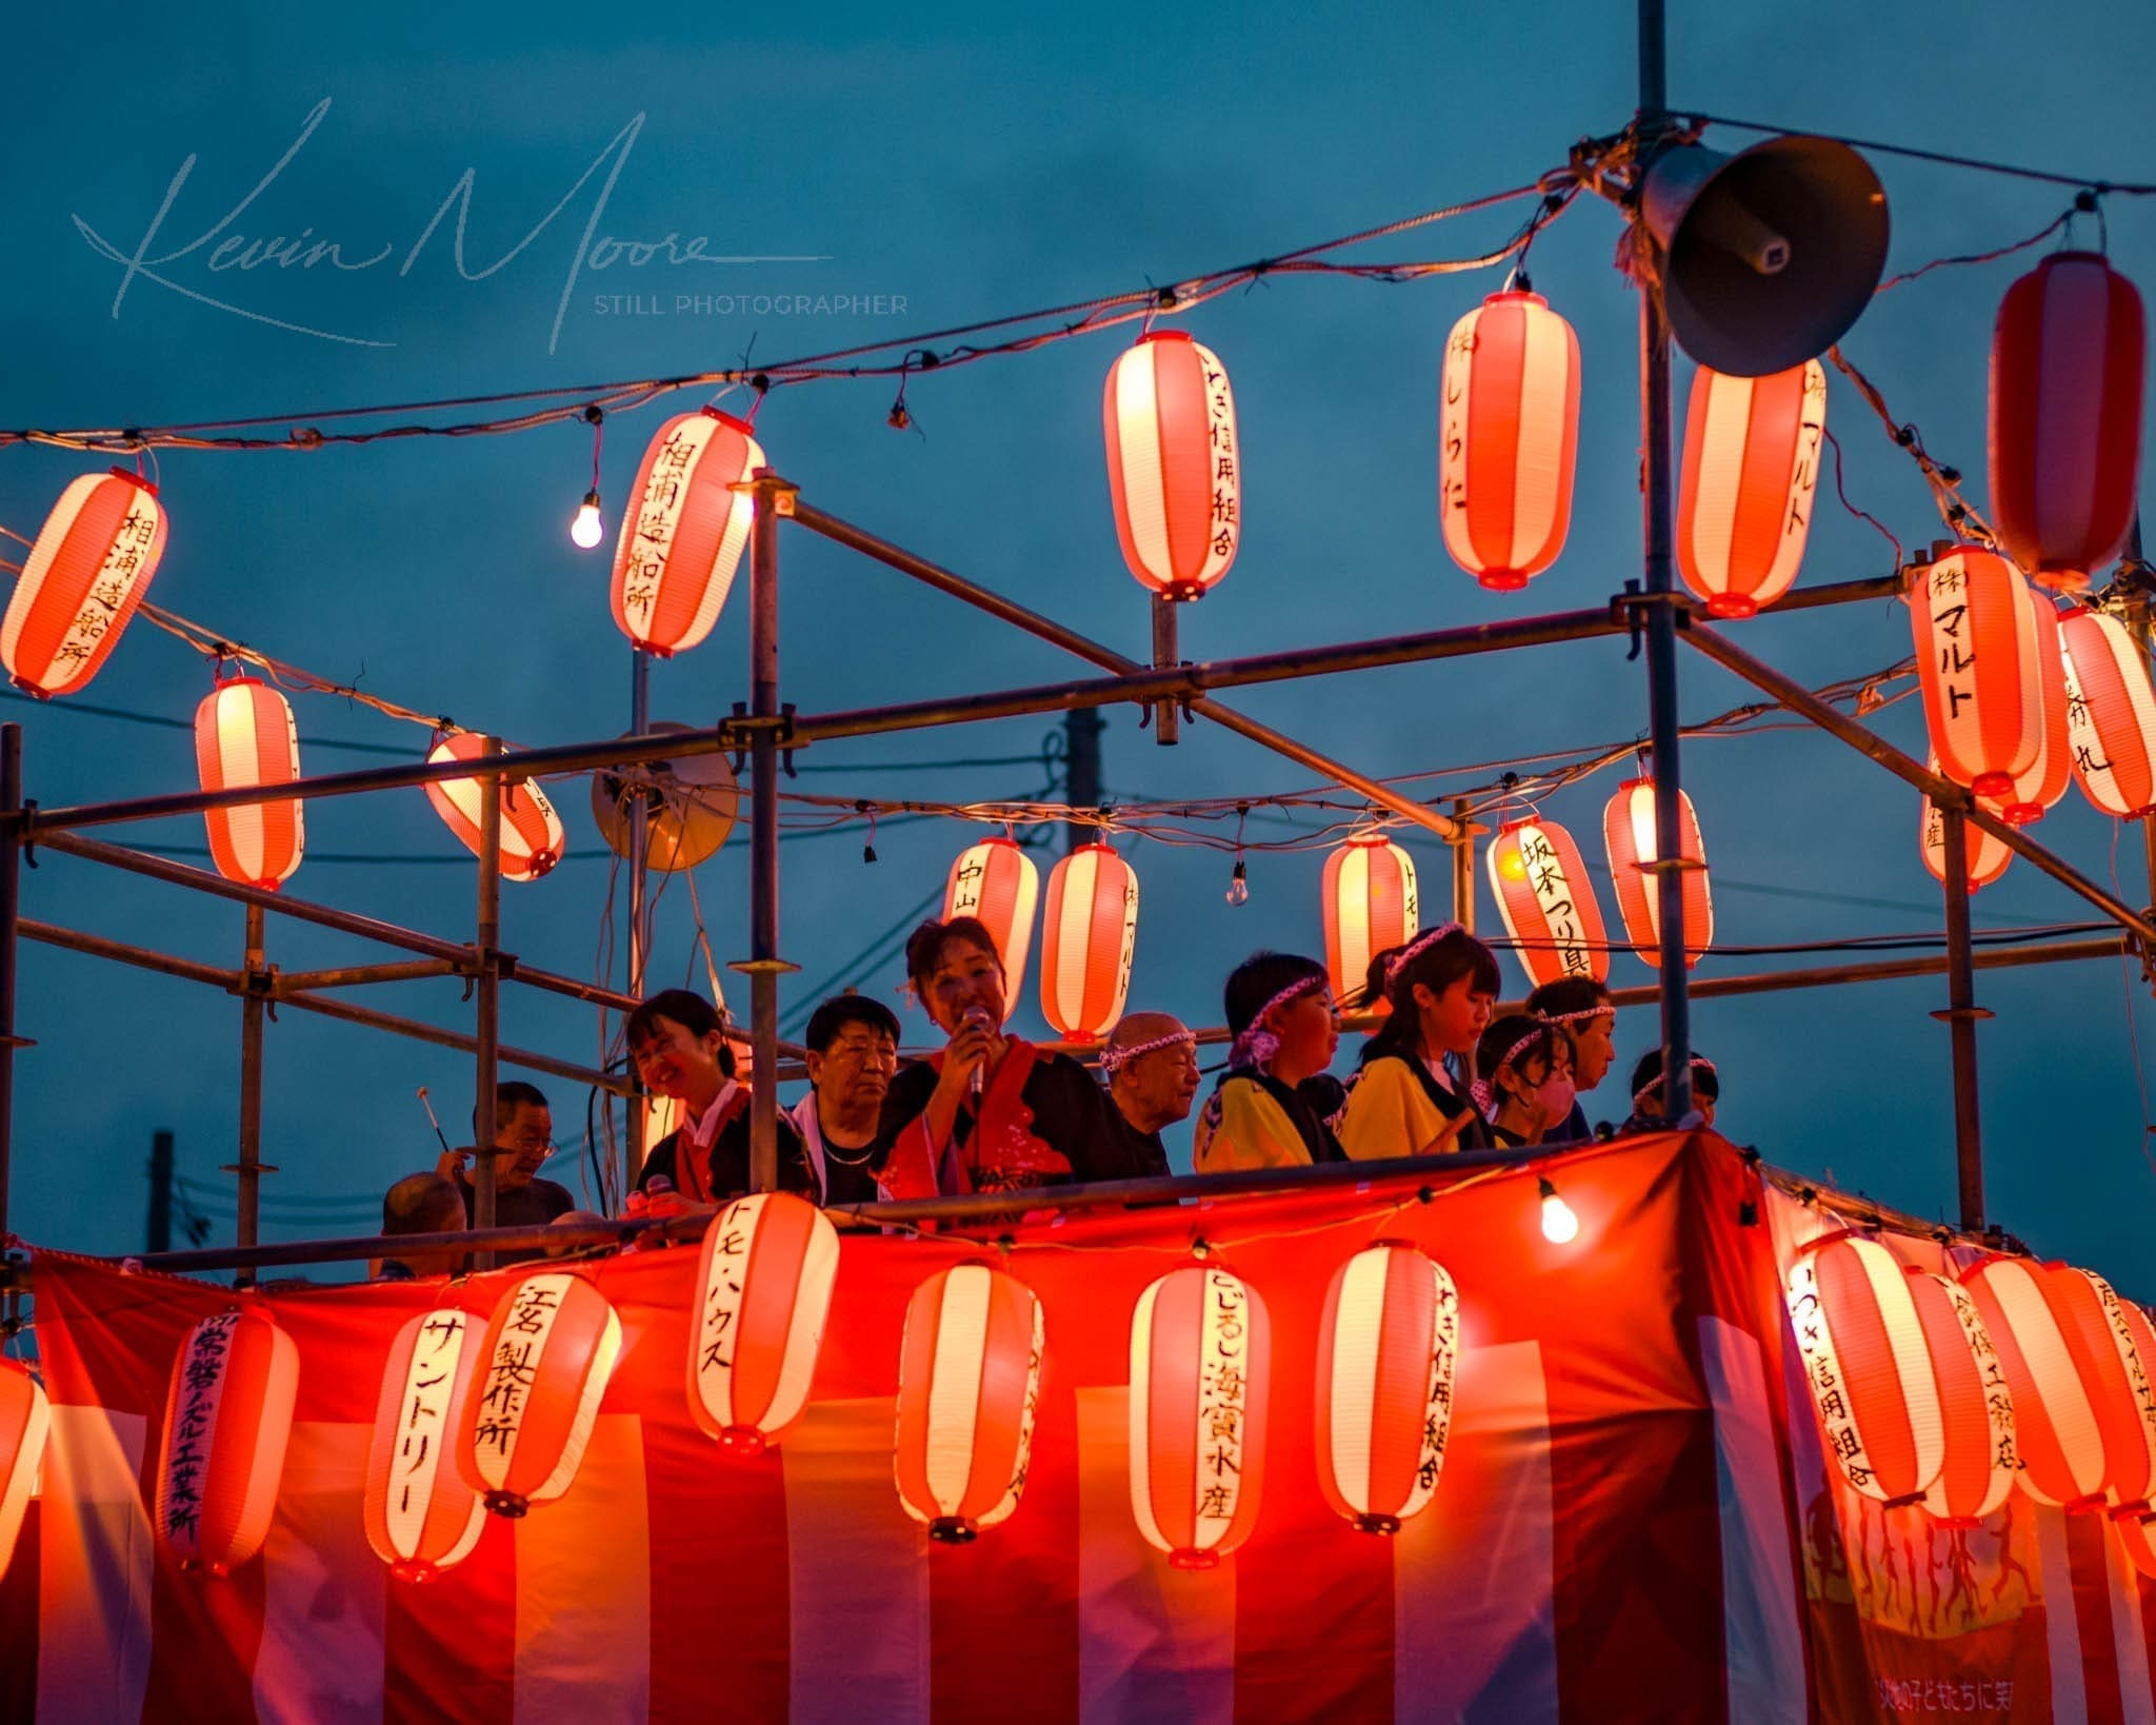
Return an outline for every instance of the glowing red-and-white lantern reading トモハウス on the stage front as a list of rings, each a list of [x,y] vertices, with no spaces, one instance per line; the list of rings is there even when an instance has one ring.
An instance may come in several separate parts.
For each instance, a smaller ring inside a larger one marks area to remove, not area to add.
[[[703,1231],[688,1410],[720,1449],[759,1455],[808,1404],[839,1229],[791,1192],[729,1203]]]

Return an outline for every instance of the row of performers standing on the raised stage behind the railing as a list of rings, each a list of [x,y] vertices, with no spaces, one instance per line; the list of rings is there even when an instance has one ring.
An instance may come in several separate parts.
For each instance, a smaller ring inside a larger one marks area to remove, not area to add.
[[[890,1007],[862,994],[824,1000],[804,1035],[808,1095],[778,1113],[780,1190],[849,1205],[1169,1173],[1162,1132],[1190,1117],[1201,1087],[1197,1035],[1177,1018],[1125,1013],[1095,1078],[1069,1054],[1005,1031],[1007,977],[979,921],[916,927],[906,977],[944,1046],[901,1067]],[[1380,953],[1352,1005],[1382,1016],[1354,1076],[1341,1082],[1330,1072],[1341,1007],[1326,966],[1253,953],[1227,979],[1233,1044],[1199,1108],[1197,1173],[1593,1136],[1580,1098],[1615,1061],[1608,990],[1567,977],[1537,988],[1520,1011],[1498,1013],[1496,998],[1496,955],[1457,923]],[[681,1126],[647,1149],[625,1214],[688,1214],[750,1190],[755,1095],[737,1076],[727,1029],[709,1000],[683,988],[630,1013],[636,1076],[675,1102]],[[1695,1057],[1697,1123],[1714,1123],[1718,1098],[1714,1065]],[[1617,1130],[1660,1128],[1662,1117],[1662,1054],[1651,1050],[1632,1072],[1630,1110]],[[500,1085],[498,1227],[604,1220],[539,1175],[552,1149],[545,1095],[524,1082]],[[382,1205],[384,1233],[464,1229],[472,1156],[448,1149],[431,1173],[399,1179]],[[407,1253],[390,1274],[427,1274],[442,1261],[438,1251]]]

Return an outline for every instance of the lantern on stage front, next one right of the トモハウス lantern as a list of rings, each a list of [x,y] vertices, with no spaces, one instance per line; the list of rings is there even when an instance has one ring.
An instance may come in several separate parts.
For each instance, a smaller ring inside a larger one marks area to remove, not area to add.
[[[964,1544],[1018,1507],[1044,1341],[1033,1289],[985,1264],[940,1270],[906,1302],[899,1503],[931,1540]]]

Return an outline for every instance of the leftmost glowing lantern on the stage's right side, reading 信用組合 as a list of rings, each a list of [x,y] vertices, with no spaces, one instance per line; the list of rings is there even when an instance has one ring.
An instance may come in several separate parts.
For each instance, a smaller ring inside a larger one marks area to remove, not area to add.
[[[1789,1270],[1789,1322],[1843,1479],[1917,1503],[1947,1462],[1938,1378],[1910,1279],[1876,1240],[1841,1236]]]

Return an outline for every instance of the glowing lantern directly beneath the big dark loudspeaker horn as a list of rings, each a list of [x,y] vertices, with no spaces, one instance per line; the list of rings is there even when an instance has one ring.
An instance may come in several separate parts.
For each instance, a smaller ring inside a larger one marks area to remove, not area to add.
[[[1772,377],[1699,367],[1684,418],[1677,574],[1714,617],[1751,617],[1796,582],[1824,436],[1818,360]]]

